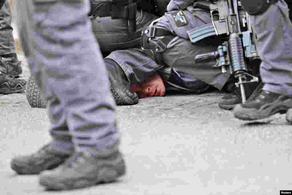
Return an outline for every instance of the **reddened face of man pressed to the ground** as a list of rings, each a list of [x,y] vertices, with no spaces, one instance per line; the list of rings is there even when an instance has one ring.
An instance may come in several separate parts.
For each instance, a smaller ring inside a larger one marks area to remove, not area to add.
[[[137,92],[139,98],[152,97],[152,96],[164,96],[165,85],[158,73],[154,73],[145,82],[137,85],[132,85],[131,92]]]

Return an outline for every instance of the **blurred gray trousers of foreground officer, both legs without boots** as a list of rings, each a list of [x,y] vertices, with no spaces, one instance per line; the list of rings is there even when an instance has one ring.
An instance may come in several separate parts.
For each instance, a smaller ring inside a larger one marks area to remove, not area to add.
[[[117,144],[115,103],[87,17],[88,1],[16,3],[21,43],[48,101],[51,145],[95,153]]]

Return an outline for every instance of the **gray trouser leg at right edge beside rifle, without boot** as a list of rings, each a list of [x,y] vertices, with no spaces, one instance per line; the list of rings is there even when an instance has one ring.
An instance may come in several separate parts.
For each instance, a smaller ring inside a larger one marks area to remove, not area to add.
[[[257,34],[264,90],[292,95],[292,24],[284,0],[262,15],[251,16]]]

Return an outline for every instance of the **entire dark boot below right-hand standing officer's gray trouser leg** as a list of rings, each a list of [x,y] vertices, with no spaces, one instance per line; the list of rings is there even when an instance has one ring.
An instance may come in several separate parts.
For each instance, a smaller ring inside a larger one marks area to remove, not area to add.
[[[241,120],[256,120],[284,114],[289,108],[292,108],[292,96],[263,90],[253,100],[236,105],[233,113]]]

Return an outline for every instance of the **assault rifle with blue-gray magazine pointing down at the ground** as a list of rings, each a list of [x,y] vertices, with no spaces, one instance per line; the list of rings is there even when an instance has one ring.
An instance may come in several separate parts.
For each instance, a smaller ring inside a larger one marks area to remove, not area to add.
[[[195,1],[194,4],[198,3],[199,1]],[[243,84],[258,82],[258,77],[248,73],[246,65],[248,61],[259,58],[253,44],[249,15],[243,10],[240,0],[218,0],[208,6],[212,23],[191,29],[187,34],[192,43],[211,36],[219,36],[223,41],[217,51],[197,55],[195,61],[217,60],[214,67],[221,68],[222,73],[227,73],[229,69],[230,74],[238,79],[235,84],[240,87],[242,102],[245,102]]]

